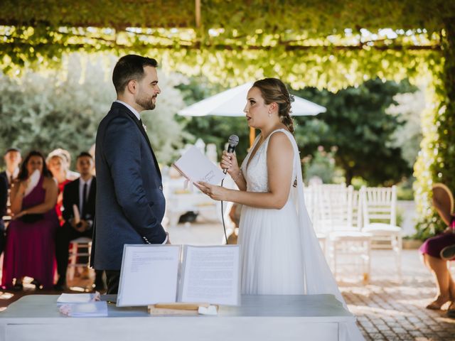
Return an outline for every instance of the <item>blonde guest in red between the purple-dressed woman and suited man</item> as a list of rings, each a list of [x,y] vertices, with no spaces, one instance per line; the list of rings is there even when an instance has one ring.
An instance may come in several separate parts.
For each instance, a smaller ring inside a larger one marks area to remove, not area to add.
[[[70,160],[70,153],[62,148],[54,149],[45,159],[50,173],[52,173],[58,184],[58,197],[57,205],[55,205],[55,212],[57,212],[60,225],[63,225],[64,222],[62,217],[63,188],[67,183],[70,183],[79,176],[77,173],[70,171]]]

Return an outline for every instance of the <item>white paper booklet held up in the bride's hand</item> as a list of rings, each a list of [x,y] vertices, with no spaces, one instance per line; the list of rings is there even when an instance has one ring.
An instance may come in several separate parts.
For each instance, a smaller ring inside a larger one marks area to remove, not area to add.
[[[226,176],[195,146],[191,146],[172,166],[191,183],[205,181],[212,185],[218,185]]]

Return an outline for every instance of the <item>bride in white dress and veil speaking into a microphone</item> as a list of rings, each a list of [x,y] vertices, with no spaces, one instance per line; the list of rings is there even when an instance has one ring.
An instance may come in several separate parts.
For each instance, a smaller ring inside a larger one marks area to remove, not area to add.
[[[233,153],[224,152],[220,163],[239,190],[196,185],[214,200],[243,205],[238,238],[242,293],[331,293],[347,308],[306,212],[291,101],[281,80],[255,82],[244,111],[248,125],[261,134],[241,167]],[[363,340],[355,323],[344,323],[341,330],[340,340]]]

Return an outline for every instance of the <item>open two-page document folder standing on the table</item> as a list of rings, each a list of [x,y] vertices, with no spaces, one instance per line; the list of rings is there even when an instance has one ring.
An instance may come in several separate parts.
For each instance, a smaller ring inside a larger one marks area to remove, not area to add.
[[[240,305],[238,245],[124,246],[117,306],[156,303]]]

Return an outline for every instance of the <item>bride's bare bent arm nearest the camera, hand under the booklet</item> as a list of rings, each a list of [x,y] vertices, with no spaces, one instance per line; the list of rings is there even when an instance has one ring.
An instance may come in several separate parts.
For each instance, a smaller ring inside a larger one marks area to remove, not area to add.
[[[250,207],[281,209],[286,204],[291,189],[293,159],[291,141],[284,133],[277,132],[270,136],[267,148],[269,192],[229,190],[208,183],[200,183],[200,190],[215,200],[237,202]]]

